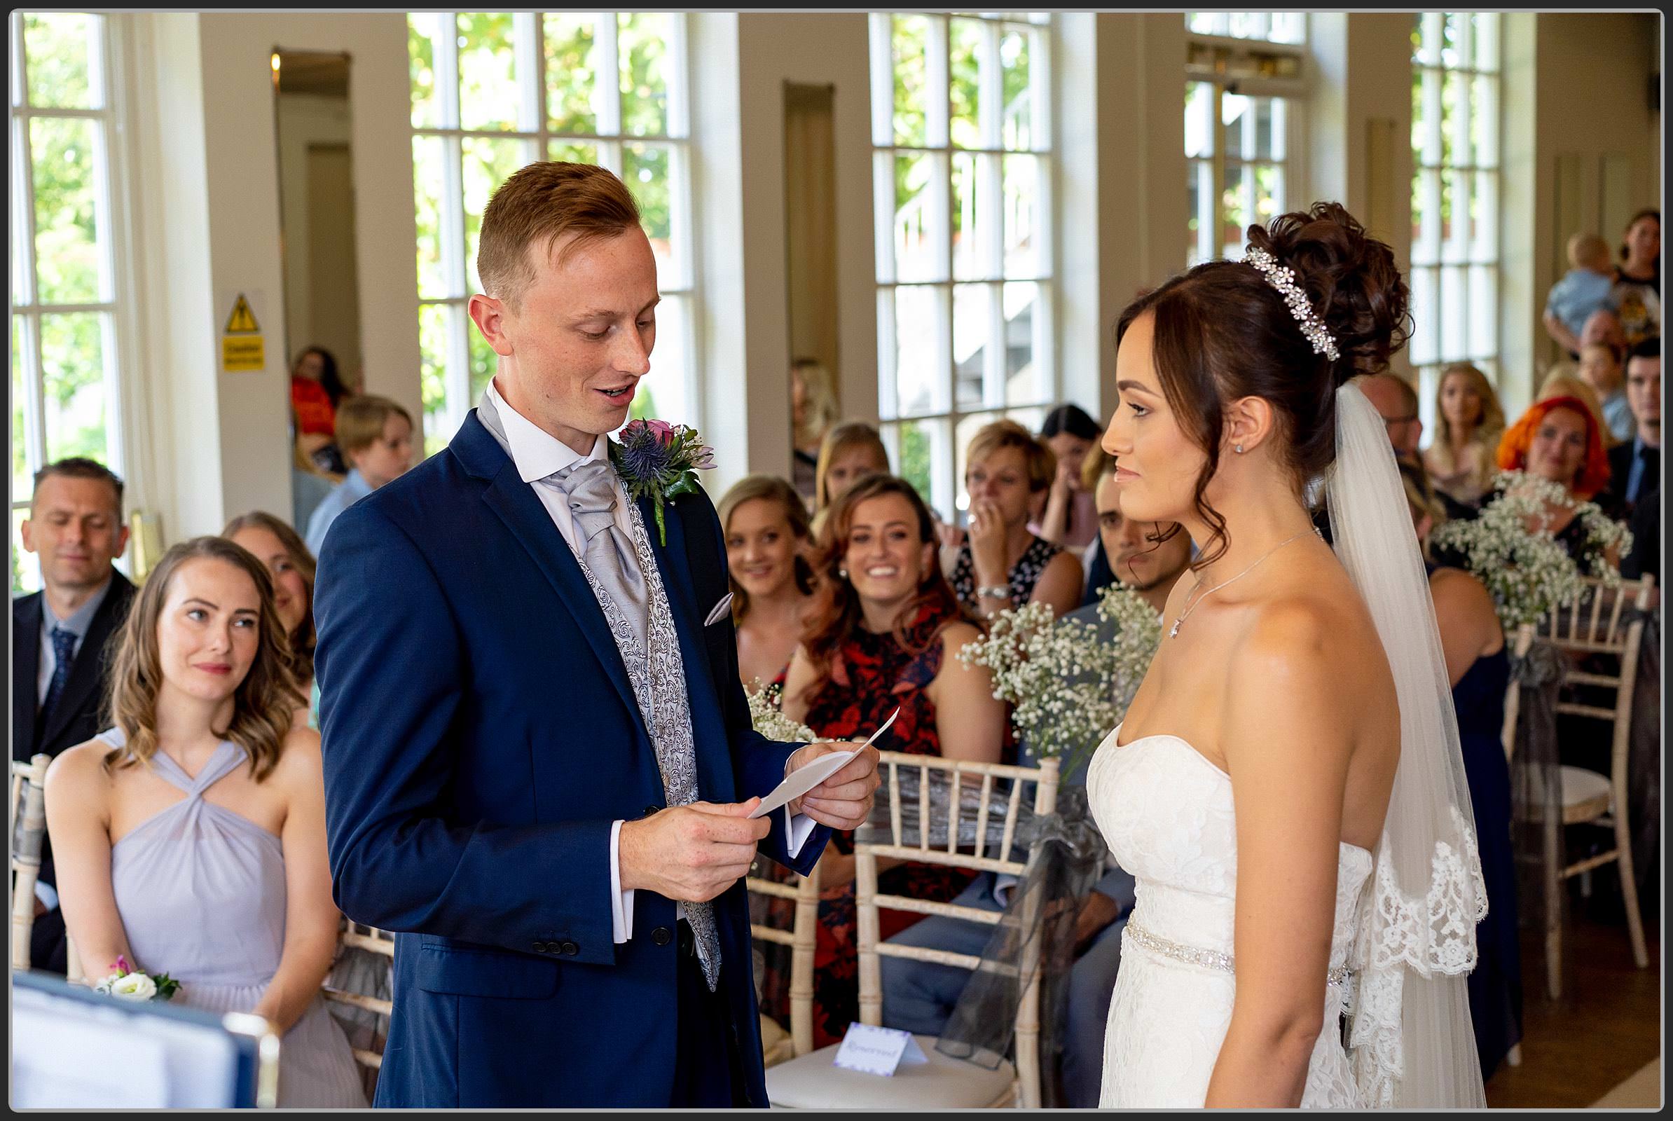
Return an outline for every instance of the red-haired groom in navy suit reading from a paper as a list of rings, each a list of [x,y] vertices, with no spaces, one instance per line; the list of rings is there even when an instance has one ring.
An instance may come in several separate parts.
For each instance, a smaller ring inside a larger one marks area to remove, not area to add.
[[[738,683],[714,507],[629,502],[606,433],[656,341],[611,172],[539,162],[482,214],[499,373],[445,452],[343,512],[315,616],[336,902],[395,930],[378,1106],[766,1106],[741,877],[806,873],[867,748],[771,743]]]

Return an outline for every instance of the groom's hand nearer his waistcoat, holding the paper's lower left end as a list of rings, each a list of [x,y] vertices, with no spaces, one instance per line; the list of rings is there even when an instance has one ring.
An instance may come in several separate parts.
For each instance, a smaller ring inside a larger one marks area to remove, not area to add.
[[[714,898],[750,872],[756,842],[773,828],[770,818],[750,820],[760,803],[693,801],[622,822],[616,838],[622,890],[642,887],[688,903]]]

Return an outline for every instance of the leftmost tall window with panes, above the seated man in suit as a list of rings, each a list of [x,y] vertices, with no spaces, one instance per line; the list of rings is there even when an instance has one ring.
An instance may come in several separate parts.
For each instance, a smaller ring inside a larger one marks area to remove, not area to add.
[[[12,77],[12,589],[32,475],[65,455],[122,472],[117,251],[112,233],[110,52],[105,17],[13,12]]]

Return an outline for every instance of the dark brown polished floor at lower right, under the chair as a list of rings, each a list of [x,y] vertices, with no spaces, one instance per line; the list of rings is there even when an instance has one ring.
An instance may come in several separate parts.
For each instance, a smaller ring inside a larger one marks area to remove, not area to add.
[[[1522,1066],[1494,1072],[1489,1108],[1588,1108],[1661,1057],[1661,927],[1653,914],[1645,915],[1645,940],[1650,969],[1638,969],[1623,924],[1571,912],[1563,997],[1553,1001],[1544,940],[1522,932]]]

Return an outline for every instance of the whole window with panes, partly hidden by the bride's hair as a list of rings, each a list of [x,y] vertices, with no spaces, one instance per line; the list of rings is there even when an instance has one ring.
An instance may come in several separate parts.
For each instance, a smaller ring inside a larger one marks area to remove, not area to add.
[[[1290,209],[1302,112],[1302,12],[1186,12],[1186,264],[1243,254]],[[1255,40],[1255,42],[1248,42]]]

